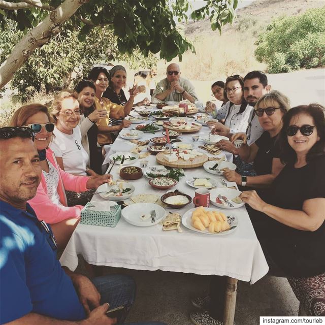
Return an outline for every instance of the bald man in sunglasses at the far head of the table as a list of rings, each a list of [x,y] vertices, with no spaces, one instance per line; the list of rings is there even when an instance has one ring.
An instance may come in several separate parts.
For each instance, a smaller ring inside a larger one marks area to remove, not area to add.
[[[151,102],[158,104],[183,100],[189,100],[191,103],[194,103],[198,100],[198,96],[191,82],[181,78],[179,65],[171,63],[167,67],[166,78],[157,83],[156,89],[151,96]]]

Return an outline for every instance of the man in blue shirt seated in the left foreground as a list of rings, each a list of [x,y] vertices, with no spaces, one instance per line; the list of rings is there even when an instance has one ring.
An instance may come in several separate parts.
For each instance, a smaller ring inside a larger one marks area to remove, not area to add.
[[[117,319],[106,315],[108,308],[124,306],[122,322],[134,301],[132,278],[91,282],[61,268],[51,229],[26,203],[41,177],[32,140],[27,127],[0,128],[0,323],[113,325]]]

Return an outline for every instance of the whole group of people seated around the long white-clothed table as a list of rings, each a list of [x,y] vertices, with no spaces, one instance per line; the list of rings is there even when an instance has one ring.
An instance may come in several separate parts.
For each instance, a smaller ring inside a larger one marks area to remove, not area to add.
[[[169,64],[151,102],[198,102],[193,85],[180,75],[179,65]],[[0,231],[6,238],[1,323],[113,324],[104,302],[110,309],[125,306],[117,319],[124,321],[134,300],[133,280],[91,282],[63,270],[56,250],[66,247],[95,189],[112,181],[102,175],[104,147],[131,125],[125,117],[135,105],[150,104],[147,98],[135,104],[141,86],[130,88],[126,99],[125,86],[124,67],[95,67],[74,90],[60,91],[50,109],[22,106],[0,129]],[[230,76],[211,90],[221,105],[207,102],[208,123],[212,133],[229,139],[216,146],[233,153],[238,166],[224,176],[242,190],[270,274],[288,278],[307,314],[325,315],[324,107],[290,108],[261,71]],[[243,141],[240,148],[236,140]],[[221,323],[224,288],[225,277],[215,276],[209,295],[192,299],[201,309],[190,314],[194,323]]]

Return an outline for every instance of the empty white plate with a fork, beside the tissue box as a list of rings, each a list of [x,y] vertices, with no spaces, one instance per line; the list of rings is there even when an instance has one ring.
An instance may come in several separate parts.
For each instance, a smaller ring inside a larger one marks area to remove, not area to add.
[[[151,210],[156,212],[155,222],[151,222],[151,217],[147,220],[140,219],[141,215],[150,215]],[[135,203],[122,210],[124,220],[139,227],[155,225],[165,217],[165,214],[165,209],[154,203]]]

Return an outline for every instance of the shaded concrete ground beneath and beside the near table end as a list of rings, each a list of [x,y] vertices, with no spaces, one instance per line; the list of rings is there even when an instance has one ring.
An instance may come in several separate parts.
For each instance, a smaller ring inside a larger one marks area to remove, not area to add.
[[[77,272],[87,274],[80,261]],[[192,273],[138,271],[104,268],[104,274],[131,275],[137,283],[136,302],[128,322],[163,321],[168,325],[190,325],[194,310],[190,297],[204,293],[210,276]],[[254,285],[238,282],[236,325],[259,324],[259,316],[297,316],[299,302],[285,278],[266,276]]]

